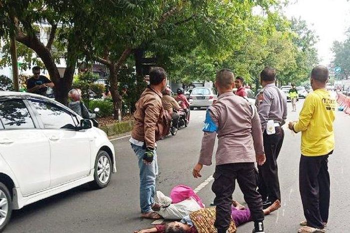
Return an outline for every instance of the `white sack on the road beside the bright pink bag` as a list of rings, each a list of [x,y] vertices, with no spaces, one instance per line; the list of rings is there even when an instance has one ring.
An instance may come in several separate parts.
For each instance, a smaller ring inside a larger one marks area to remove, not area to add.
[[[190,214],[191,212],[199,210],[201,207],[195,199],[189,197],[178,203],[171,203],[171,198],[165,196],[161,191],[156,192],[160,210],[156,211],[164,219],[181,219],[182,217]]]

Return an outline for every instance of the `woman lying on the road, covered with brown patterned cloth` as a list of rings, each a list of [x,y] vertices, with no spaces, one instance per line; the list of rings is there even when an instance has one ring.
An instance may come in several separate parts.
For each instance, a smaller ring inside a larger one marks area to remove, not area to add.
[[[280,207],[279,200],[263,210],[265,215],[270,214]],[[251,221],[250,211],[237,201],[232,201],[231,207],[232,221],[228,229],[229,233],[236,231],[236,226]],[[134,231],[134,233],[212,233],[216,232],[214,228],[215,208],[203,208],[195,211],[181,219],[180,222],[173,221],[167,224],[155,225],[149,229]]]

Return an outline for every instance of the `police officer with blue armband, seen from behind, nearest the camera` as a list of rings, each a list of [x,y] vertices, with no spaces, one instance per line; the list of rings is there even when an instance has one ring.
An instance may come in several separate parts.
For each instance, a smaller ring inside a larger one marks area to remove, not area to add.
[[[200,177],[203,165],[211,165],[217,135],[216,167],[212,184],[216,205],[214,226],[218,233],[228,229],[232,193],[237,179],[251,211],[253,232],[263,232],[262,199],[256,191],[257,174],[254,166],[255,161],[259,165],[265,161],[260,120],[254,106],[233,94],[234,76],[230,70],[217,72],[215,87],[219,97],[206,112],[199,161],[193,168],[193,176]]]

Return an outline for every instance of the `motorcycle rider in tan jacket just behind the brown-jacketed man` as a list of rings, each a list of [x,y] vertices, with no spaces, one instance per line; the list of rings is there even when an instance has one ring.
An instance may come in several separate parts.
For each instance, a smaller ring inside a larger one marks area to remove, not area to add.
[[[174,126],[174,129],[176,130],[178,127],[178,120],[180,118],[180,115],[175,112],[179,111],[181,107],[178,105],[176,100],[171,96],[171,89],[165,88],[164,91],[161,92],[163,97],[161,98],[161,103],[163,105],[164,110],[169,112],[169,115],[172,119],[172,125]],[[175,111],[174,111],[175,110]]]

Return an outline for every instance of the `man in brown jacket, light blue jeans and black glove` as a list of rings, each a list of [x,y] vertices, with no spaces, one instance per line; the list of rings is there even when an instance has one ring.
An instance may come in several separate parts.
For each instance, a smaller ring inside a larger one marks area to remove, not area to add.
[[[149,86],[136,103],[130,138],[131,148],[138,160],[141,217],[150,219],[160,218],[160,215],[154,212],[160,208],[160,205],[154,202],[155,177],[158,174],[155,141],[160,138],[162,130],[161,91],[165,87],[165,70],[160,67],[151,68]]]

